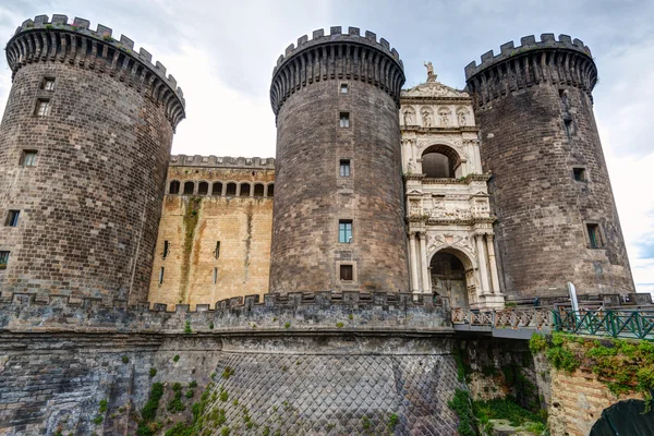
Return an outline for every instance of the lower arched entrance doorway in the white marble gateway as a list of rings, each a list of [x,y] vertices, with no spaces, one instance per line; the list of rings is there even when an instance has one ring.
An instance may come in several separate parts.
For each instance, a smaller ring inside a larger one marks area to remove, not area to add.
[[[434,254],[429,267],[432,270],[432,292],[436,295],[448,296],[452,307],[468,307],[468,286],[463,255],[441,250]]]

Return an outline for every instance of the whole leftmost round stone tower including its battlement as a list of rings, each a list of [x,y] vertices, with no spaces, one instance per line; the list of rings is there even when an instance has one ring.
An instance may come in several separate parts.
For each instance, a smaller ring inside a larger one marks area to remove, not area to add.
[[[145,301],[184,99],[152,56],[65,15],[7,45],[0,289]]]

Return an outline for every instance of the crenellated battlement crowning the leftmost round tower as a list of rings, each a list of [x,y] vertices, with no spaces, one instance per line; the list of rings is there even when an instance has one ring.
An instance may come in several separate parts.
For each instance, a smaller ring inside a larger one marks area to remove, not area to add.
[[[15,73],[26,63],[59,61],[84,69],[106,71],[110,76],[125,82],[128,86],[145,92],[155,101],[165,105],[166,116],[173,129],[185,117],[182,88],[172,75],[166,75],[166,66],[145,49],[134,51],[134,41],[121,35],[117,40],[112,29],[98,24],[96,31],[90,22],[75,17],[69,23],[66,15],[37,15],[25,20],[7,44],[7,60]]]

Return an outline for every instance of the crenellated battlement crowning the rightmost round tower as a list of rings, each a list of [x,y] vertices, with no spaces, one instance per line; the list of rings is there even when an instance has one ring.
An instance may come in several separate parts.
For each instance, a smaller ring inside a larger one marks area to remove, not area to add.
[[[592,99],[597,69],[591,49],[582,40],[568,35],[559,35],[556,40],[554,34],[543,34],[540,41],[533,35],[520,41],[519,47],[506,43],[499,55],[487,51],[480,65],[472,61],[465,66],[468,90],[475,106],[541,83],[574,86]]]

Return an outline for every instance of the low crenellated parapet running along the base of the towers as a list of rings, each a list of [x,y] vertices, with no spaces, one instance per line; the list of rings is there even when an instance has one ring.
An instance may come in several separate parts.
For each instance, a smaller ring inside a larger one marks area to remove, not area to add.
[[[0,298],[0,330],[116,330],[157,334],[184,332],[186,322],[192,331],[238,332],[427,329],[451,330],[449,302],[428,295],[414,296],[395,292],[292,292],[235,296],[221,300],[214,307],[177,304],[138,303],[101,299],[73,299],[66,295],[4,293]],[[186,331],[187,332],[187,331]]]

